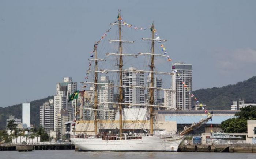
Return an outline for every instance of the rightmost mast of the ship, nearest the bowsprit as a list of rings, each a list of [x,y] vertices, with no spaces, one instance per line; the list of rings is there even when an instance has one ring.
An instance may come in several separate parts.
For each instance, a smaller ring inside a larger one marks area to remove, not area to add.
[[[151,29],[151,32],[152,32],[152,39],[154,39],[154,22],[152,23],[152,29]],[[151,65],[150,65],[150,88],[149,89],[149,95],[150,95],[150,100],[149,100],[149,104],[150,105],[154,105],[154,90],[153,90],[153,87],[154,87],[154,67],[155,67],[155,61],[154,61],[154,40],[152,40],[152,43],[151,43],[151,51],[152,51],[152,54],[151,55]],[[153,107],[150,107],[149,108],[149,113],[150,113],[150,135],[153,135],[153,117],[154,117],[154,108]]]

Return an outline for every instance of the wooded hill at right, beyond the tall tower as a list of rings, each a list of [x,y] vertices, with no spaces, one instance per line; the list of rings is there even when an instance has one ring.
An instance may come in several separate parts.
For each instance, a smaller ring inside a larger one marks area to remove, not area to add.
[[[233,104],[233,100],[243,99],[246,103],[256,102],[256,76],[238,82],[237,84],[227,85],[220,88],[200,89],[193,92],[200,102],[207,105],[210,109],[228,109]]]

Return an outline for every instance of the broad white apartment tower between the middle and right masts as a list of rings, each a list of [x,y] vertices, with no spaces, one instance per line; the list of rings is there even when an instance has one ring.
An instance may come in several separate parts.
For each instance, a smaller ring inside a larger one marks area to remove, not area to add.
[[[135,71],[135,67],[130,67],[128,71]],[[143,86],[144,73],[123,72],[123,86]],[[124,103],[140,103],[145,102],[144,88],[123,88]]]

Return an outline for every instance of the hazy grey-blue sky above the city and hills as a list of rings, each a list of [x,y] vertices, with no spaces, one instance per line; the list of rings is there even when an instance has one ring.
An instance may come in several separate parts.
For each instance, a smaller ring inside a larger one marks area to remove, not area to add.
[[[154,21],[173,62],[193,65],[193,90],[255,76],[255,0],[0,0],[0,107],[83,82],[87,59],[122,9],[133,26]],[[149,35],[149,34],[148,34]]]

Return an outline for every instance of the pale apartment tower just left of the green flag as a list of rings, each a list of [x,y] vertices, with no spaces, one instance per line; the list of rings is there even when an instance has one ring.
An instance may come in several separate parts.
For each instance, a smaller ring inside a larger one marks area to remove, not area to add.
[[[68,102],[68,98],[76,91],[76,82],[72,82],[71,77],[64,77],[63,82],[56,84],[56,95],[54,96],[54,131],[57,128],[57,115],[60,114],[61,109],[68,111],[69,120],[75,117],[73,105],[75,101]]]

